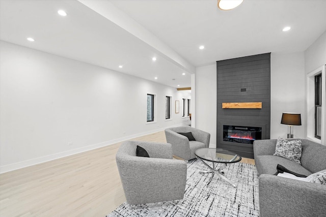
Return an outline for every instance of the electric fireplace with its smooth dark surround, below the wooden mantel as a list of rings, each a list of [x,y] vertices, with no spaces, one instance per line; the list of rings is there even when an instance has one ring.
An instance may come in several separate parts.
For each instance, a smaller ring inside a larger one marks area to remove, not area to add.
[[[249,121],[219,122],[219,148],[238,153],[244,158],[254,158],[253,143],[255,140],[266,138],[266,125],[250,123]]]

